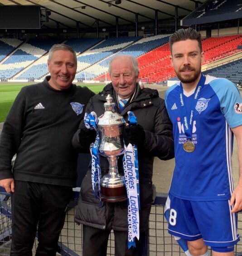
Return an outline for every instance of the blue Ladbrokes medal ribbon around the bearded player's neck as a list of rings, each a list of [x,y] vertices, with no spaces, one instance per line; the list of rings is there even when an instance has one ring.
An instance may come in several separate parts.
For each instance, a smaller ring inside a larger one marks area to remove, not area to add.
[[[179,86],[179,97],[180,97],[180,103],[181,103],[181,112],[183,116],[183,124],[184,124],[184,133],[187,136],[187,140],[192,139],[192,130],[193,130],[193,120],[194,120],[194,111],[198,102],[199,95],[203,89],[204,83],[205,83],[205,76],[201,74],[201,78],[199,79],[198,85],[195,89],[194,98],[192,100],[191,104],[191,112],[190,112],[190,118],[188,118],[188,110],[185,106],[184,101],[184,94],[183,94],[183,87],[180,82]]]

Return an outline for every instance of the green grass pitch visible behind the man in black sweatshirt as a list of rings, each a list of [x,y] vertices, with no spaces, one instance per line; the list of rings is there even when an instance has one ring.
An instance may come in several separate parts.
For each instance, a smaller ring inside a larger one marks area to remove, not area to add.
[[[31,83],[29,83],[30,85]],[[5,121],[5,118],[17,96],[20,89],[28,84],[10,84],[0,83],[0,123]],[[79,84],[81,86],[87,86],[95,94],[102,91],[105,84]]]

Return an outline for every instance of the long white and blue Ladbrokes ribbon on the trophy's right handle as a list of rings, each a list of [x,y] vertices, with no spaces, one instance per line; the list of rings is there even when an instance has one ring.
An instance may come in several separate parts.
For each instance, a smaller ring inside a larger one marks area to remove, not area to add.
[[[129,125],[136,125],[136,116],[128,112]],[[140,187],[139,187],[139,166],[136,145],[125,147],[123,157],[124,177],[128,197],[128,248],[136,247],[135,238],[140,238]]]

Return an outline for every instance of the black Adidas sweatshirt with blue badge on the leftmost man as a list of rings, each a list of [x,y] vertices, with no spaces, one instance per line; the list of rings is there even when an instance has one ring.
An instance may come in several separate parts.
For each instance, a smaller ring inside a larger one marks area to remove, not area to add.
[[[77,152],[71,140],[94,93],[75,84],[58,91],[49,79],[23,87],[10,109],[0,137],[0,179],[76,186]],[[70,103],[81,103],[82,113],[77,115]]]

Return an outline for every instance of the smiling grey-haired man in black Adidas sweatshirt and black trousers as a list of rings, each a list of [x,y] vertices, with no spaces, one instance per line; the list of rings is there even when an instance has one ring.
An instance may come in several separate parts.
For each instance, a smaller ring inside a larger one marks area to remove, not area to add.
[[[68,45],[53,45],[48,69],[44,82],[21,89],[0,137],[0,186],[11,192],[13,256],[32,255],[37,223],[36,255],[56,255],[77,179],[71,139],[94,95],[72,84],[77,57]]]

